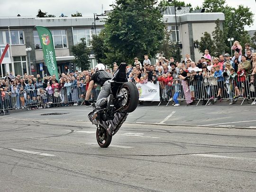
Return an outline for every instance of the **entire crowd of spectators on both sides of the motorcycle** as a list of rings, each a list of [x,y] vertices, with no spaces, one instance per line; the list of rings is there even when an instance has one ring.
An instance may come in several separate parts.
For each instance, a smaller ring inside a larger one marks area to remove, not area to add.
[[[229,53],[212,57],[208,50],[196,63],[189,54],[183,61],[174,61],[171,57],[166,59],[162,54],[152,65],[147,55],[141,63],[134,58],[134,63],[127,67],[127,77],[133,83],[157,83],[161,90],[161,99],[173,101],[174,106],[179,106],[179,98],[183,97],[187,105],[194,100],[210,100],[212,104],[216,100],[229,99],[230,105],[239,98],[252,98],[252,105],[256,104],[256,53],[245,44],[245,50],[238,41],[232,46],[234,57]],[[242,53],[245,53],[244,55]],[[106,69],[114,73],[118,68],[113,63],[113,69]],[[85,92],[88,89],[91,75],[94,70],[82,72],[70,71],[61,74],[59,80],[55,75],[41,77],[40,75],[7,74],[0,80],[0,115],[9,114],[8,109],[34,110],[48,107],[61,107],[79,105],[83,103]],[[101,90],[100,85],[95,84],[91,98],[96,99]],[[207,102],[208,103],[208,102]]]

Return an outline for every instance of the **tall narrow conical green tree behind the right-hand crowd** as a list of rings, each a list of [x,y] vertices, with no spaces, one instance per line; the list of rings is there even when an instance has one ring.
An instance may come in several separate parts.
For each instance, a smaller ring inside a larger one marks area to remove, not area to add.
[[[224,33],[220,29],[219,19],[215,22],[215,24],[215,30],[212,32],[213,50],[211,54],[219,57],[219,55],[224,54],[225,50],[229,48],[225,44]]]

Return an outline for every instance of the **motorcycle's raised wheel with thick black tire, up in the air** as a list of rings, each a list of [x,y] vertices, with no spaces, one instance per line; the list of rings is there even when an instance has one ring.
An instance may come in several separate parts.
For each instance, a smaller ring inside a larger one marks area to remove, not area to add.
[[[131,82],[124,83],[119,90],[119,94],[124,96],[124,100],[121,102],[121,111],[133,112],[137,108],[139,99],[137,86]]]

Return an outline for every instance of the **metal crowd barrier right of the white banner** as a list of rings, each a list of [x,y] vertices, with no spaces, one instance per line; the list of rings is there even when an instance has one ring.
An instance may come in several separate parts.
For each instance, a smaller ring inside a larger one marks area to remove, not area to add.
[[[192,95],[192,100],[196,101],[198,105],[200,102],[208,105],[216,102],[217,100],[230,100],[235,102],[242,100],[243,105],[245,100],[252,100],[252,103],[256,101],[256,75],[248,75],[245,77],[245,81],[241,77],[236,76],[234,79],[229,79],[228,76],[223,78],[223,81],[219,81],[214,77],[207,78],[194,78],[186,80],[185,86],[189,88],[189,92]],[[181,82],[182,80],[175,79],[173,82],[180,83],[181,92],[179,100],[185,100],[184,88]],[[174,95],[174,85],[170,86],[168,83],[160,84],[160,103],[168,101],[166,106],[171,102],[169,99]]]

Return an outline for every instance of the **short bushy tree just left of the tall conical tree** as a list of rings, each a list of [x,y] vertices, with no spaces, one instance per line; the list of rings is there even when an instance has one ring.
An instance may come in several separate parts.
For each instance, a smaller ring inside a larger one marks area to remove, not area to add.
[[[210,33],[208,32],[204,32],[203,36],[200,38],[200,42],[196,41],[195,43],[199,45],[198,50],[202,54],[204,54],[204,50],[209,50],[210,54],[212,54],[214,51],[213,41],[211,39]]]

